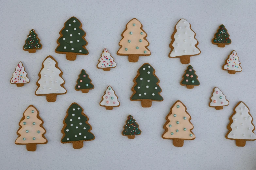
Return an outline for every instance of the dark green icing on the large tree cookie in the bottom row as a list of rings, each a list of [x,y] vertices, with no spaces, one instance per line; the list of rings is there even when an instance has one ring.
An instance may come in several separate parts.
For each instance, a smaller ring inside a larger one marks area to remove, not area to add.
[[[79,110],[77,108],[79,108]],[[72,116],[72,114],[75,114],[75,115]],[[70,121],[70,119],[72,119],[72,121]],[[65,119],[65,123],[67,124],[66,128],[64,129],[65,136],[61,141],[71,142],[71,141],[78,141],[78,140],[93,139],[94,135],[91,132],[88,132],[88,130],[91,129],[91,126],[88,124],[87,120],[88,120],[87,116],[82,115],[82,108],[79,105],[77,104],[71,105],[68,109],[68,116]],[[79,123],[82,123],[82,124],[80,125]],[[71,126],[71,124],[73,125]],[[67,129],[68,129],[68,132],[67,132]],[[79,135],[79,133],[81,133],[81,135]],[[75,135],[77,135],[77,137],[75,137]],[[84,136],[86,136],[86,138],[84,138]],[[69,140],[67,140],[67,138],[69,138]]]

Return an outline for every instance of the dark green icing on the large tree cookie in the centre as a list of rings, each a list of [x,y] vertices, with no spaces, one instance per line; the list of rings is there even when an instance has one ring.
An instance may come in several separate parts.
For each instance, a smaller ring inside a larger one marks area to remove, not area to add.
[[[148,66],[150,66],[150,68],[148,68]],[[143,68],[145,68],[145,70],[143,70]],[[150,72],[149,74],[147,73],[148,71]],[[153,75],[153,71],[154,68],[149,64],[141,66],[139,69],[139,76],[135,80],[137,82],[136,86],[134,87],[136,93],[131,97],[132,100],[163,100],[162,96],[159,94],[159,92],[161,92],[161,88],[157,85],[159,80],[156,76]],[[142,78],[142,80],[140,78]],[[149,80],[149,82],[147,82],[147,80]],[[146,88],[146,86],[148,86],[148,88]],[[140,88],[138,89],[138,87]],[[155,89],[155,87],[157,89]],[[152,93],[155,95],[153,96]],[[139,96],[139,94],[141,94],[141,96]]]

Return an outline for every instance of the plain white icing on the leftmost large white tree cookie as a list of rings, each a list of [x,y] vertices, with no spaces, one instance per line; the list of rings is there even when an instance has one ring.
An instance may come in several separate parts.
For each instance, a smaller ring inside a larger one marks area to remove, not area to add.
[[[65,93],[66,89],[60,85],[64,80],[59,76],[60,70],[55,67],[56,62],[48,57],[43,62],[43,69],[40,72],[41,78],[38,80],[40,87],[36,94]]]

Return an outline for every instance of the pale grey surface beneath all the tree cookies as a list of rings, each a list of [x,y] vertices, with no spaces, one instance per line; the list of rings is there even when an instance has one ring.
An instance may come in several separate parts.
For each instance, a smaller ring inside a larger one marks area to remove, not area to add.
[[[215,5],[217,4],[217,5]],[[227,124],[233,107],[243,101],[256,119],[255,105],[255,1],[3,1],[0,2],[1,47],[1,169],[255,169],[256,141],[236,147],[227,140]],[[90,54],[67,61],[54,52],[64,22],[76,16],[86,31]],[[125,25],[132,18],[143,24],[148,34],[149,57],[129,63],[128,57],[117,56],[118,42]],[[192,57],[200,86],[193,90],[180,86],[187,65],[168,58],[169,43],[180,18],[190,22],[199,41],[201,54]],[[218,48],[211,43],[220,24],[228,29],[232,43]],[[22,50],[26,35],[34,28],[43,44],[42,50],[29,54]],[[110,72],[96,68],[100,54],[107,48],[117,67]],[[236,50],[243,71],[235,75],[221,69],[231,50]],[[67,94],[48,103],[45,96],[35,96],[36,81],[45,57],[52,55],[63,71]],[[12,73],[22,61],[30,83],[24,87],[10,84]],[[150,63],[160,79],[162,102],[142,108],[129,100],[133,78],[138,68]],[[95,88],[87,94],[74,89],[81,69],[90,75]],[[116,75],[116,76],[115,76]],[[111,111],[99,106],[106,87],[111,85],[121,103]],[[208,106],[213,87],[224,92],[230,105],[223,110]],[[181,100],[190,113],[196,139],[185,141],[182,148],[162,139],[165,116],[176,100]],[[61,144],[62,121],[72,102],[77,102],[90,118],[94,141],[84,142],[82,149]],[[46,145],[35,152],[15,145],[18,122],[27,106],[34,105],[47,130]],[[131,140],[121,135],[128,114],[134,116],[142,134]],[[256,122],[254,121],[254,124]]]

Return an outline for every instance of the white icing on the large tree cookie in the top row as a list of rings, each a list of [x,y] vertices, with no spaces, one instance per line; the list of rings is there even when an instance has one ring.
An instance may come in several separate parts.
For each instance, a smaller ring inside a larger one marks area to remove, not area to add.
[[[195,33],[190,29],[189,22],[184,19],[179,20],[176,30],[172,44],[174,49],[170,57],[199,54],[200,50],[195,47],[197,44],[197,40],[194,38]]]

